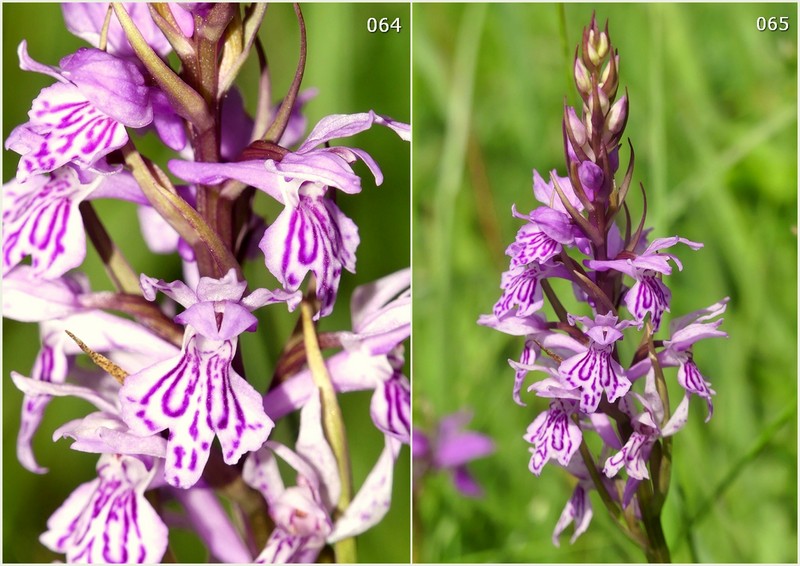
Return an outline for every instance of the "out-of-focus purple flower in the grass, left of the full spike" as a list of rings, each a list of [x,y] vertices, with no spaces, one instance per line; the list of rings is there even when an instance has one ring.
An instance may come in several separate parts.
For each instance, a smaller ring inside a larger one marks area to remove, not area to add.
[[[472,415],[462,411],[442,418],[431,435],[414,429],[412,449],[415,463],[431,470],[449,471],[461,494],[480,497],[483,489],[469,473],[467,464],[492,454],[495,447],[485,434],[464,430],[471,420]],[[423,472],[424,469],[418,474]]]

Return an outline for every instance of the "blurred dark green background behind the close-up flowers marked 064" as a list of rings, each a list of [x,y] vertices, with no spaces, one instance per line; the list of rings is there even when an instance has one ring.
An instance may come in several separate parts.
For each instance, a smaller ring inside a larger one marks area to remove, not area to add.
[[[318,96],[308,104],[309,128],[333,113],[374,109],[393,118],[410,118],[410,21],[407,4],[310,4],[303,6],[308,30],[308,63],[303,88],[316,87]],[[370,17],[399,17],[400,33],[368,33]],[[273,96],[277,101],[292,80],[298,55],[297,22],[290,4],[271,5],[261,30],[272,72]],[[64,28],[57,4],[6,4],[3,6],[3,137],[27,120],[26,113],[39,90],[52,79],[19,70],[16,49],[28,40],[31,56],[56,65],[63,56],[85,44]],[[257,63],[248,61],[239,84],[251,111],[256,101]],[[137,145],[162,165],[170,157],[159,152],[152,136],[136,139]],[[352,140],[334,142],[361,147],[381,165],[385,181],[376,188],[366,167],[356,165],[364,178],[357,196],[338,195],[340,208],[360,229],[358,272],[342,278],[336,312],[321,324],[322,331],[350,328],[349,299],[356,285],[407,267],[410,257],[410,148],[385,128],[375,128]],[[3,152],[3,178],[11,179],[18,156]],[[261,195],[256,205],[269,218],[280,208]],[[180,277],[176,258],[150,254],[138,230],[135,207],[96,201],[96,208],[114,240],[134,268],[167,280]],[[90,246],[91,248],[91,246]],[[110,289],[97,255],[90,249],[86,261],[93,289]],[[275,288],[276,280],[257,262],[246,269],[251,288]],[[241,343],[250,380],[265,388],[283,342],[290,334],[295,315],[284,309],[262,309],[259,331],[243,336]],[[38,350],[36,325],[3,321],[3,561],[50,562],[57,556],[38,542],[47,518],[79,483],[93,479],[96,457],[71,451],[69,442],[53,443],[50,436],[68,419],[87,414],[87,403],[57,399],[47,410],[36,437],[35,453],[50,473],[36,476],[16,460],[15,439],[19,427],[22,395],[11,383],[11,370],[29,374]],[[369,418],[370,393],[351,394],[343,400],[347,415],[353,473],[359,486],[383,447],[383,437]],[[276,438],[291,441],[289,427],[276,431]],[[392,508],[384,521],[358,539],[359,559],[366,562],[407,562],[410,548],[409,453],[404,448],[395,468]],[[171,545],[180,560],[204,561],[199,540],[186,531],[173,530]]]

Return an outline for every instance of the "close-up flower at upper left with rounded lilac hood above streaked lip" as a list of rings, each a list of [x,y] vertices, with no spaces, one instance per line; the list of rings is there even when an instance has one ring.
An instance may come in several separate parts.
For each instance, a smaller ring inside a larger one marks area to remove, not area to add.
[[[153,121],[150,87],[133,63],[82,47],[59,67],[50,67],[31,59],[24,41],[18,53],[22,69],[59,81],[39,93],[30,121],[6,140],[8,149],[22,155],[18,181],[68,163],[107,172],[101,160],[128,141],[125,127],[142,128]]]

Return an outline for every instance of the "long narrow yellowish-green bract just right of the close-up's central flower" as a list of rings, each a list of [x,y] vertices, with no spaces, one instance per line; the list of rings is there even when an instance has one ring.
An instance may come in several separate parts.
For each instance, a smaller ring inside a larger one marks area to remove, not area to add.
[[[353,497],[353,479],[350,472],[350,454],[347,448],[347,435],[344,430],[344,419],[339,401],[336,398],[336,391],[333,388],[328,369],[325,367],[325,359],[319,349],[317,330],[314,328],[313,309],[310,301],[304,300],[301,305],[301,317],[303,320],[303,340],[306,345],[306,357],[308,367],[311,369],[311,377],[314,384],[319,389],[320,400],[322,402],[322,429],[325,437],[331,445],[336,463],[339,468],[339,477],[342,482],[342,491],[339,501],[336,504],[334,520],[337,516],[344,513],[350,500]],[[334,544],[336,562],[353,563],[356,561],[356,541],[354,538],[346,538]]]

